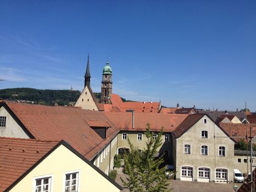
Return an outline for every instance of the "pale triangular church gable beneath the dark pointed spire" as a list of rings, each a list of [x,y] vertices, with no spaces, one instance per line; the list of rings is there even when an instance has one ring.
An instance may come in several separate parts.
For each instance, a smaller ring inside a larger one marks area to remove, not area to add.
[[[93,96],[91,95],[90,90],[87,86],[80,94],[74,107],[82,107],[83,109],[98,111],[98,107],[94,102]]]

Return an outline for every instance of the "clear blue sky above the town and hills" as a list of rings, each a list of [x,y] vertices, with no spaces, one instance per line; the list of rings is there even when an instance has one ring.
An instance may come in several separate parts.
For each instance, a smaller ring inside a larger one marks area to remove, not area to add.
[[[107,59],[135,101],[256,110],[256,1],[0,1],[0,88],[82,90]]]

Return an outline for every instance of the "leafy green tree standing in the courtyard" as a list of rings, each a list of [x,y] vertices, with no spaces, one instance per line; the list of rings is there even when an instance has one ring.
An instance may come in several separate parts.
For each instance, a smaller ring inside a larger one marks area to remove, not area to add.
[[[138,150],[128,142],[130,146],[129,154],[124,154],[124,166],[125,172],[129,176],[127,182],[122,178],[125,188],[129,188],[130,191],[168,191],[168,183],[165,176],[165,167],[160,168],[163,163],[163,155],[159,158],[155,158],[157,149],[162,145],[163,128],[158,133],[157,138],[153,137],[153,132],[150,130],[150,125],[147,124],[146,128],[146,148],[143,152]]]

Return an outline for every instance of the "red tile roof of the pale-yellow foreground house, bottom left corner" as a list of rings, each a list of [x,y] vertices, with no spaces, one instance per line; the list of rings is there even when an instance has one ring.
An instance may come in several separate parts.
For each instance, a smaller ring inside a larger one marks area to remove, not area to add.
[[[12,185],[58,143],[0,137],[0,191]]]

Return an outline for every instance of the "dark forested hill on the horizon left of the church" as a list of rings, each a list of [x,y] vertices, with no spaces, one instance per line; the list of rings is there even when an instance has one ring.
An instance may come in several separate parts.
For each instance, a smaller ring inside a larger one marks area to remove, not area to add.
[[[0,90],[0,99],[9,101],[31,101],[34,104],[43,105],[68,105],[76,102],[80,91],[71,90],[37,90],[35,88],[6,88]]]

